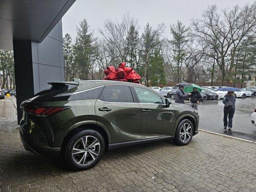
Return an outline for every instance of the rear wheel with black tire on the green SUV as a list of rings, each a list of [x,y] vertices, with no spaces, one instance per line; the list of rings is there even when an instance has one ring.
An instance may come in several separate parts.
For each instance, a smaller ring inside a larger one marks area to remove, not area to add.
[[[69,137],[63,150],[62,158],[69,168],[85,170],[94,167],[99,162],[105,150],[105,142],[99,132],[82,130]]]

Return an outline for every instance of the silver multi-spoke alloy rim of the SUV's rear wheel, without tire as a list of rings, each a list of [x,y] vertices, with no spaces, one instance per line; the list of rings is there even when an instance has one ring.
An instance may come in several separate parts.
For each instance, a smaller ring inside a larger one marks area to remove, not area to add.
[[[73,146],[72,156],[78,165],[93,162],[99,155],[100,143],[94,136],[86,135],[80,138]]]

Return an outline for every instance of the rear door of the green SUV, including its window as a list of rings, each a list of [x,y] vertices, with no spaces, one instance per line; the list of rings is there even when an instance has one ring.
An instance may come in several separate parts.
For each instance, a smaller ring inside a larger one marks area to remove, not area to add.
[[[111,143],[140,140],[141,109],[129,85],[106,85],[95,104],[97,121],[108,127]]]

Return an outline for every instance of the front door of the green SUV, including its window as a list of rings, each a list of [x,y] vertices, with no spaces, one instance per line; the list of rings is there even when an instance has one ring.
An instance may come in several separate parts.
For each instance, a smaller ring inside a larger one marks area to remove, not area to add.
[[[175,131],[173,106],[166,107],[164,98],[149,89],[133,86],[133,90],[141,108],[141,138],[172,136]]]

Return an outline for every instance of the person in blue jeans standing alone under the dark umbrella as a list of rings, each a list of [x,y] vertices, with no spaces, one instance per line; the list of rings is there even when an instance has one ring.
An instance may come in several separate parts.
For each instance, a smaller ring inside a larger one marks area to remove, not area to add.
[[[224,99],[222,102],[225,104],[224,105],[224,129],[227,129],[227,126],[229,130],[232,130],[232,120],[233,116],[235,113],[235,96],[233,91],[229,91],[227,95],[225,95]],[[229,118],[229,123],[228,123],[228,118]]]

